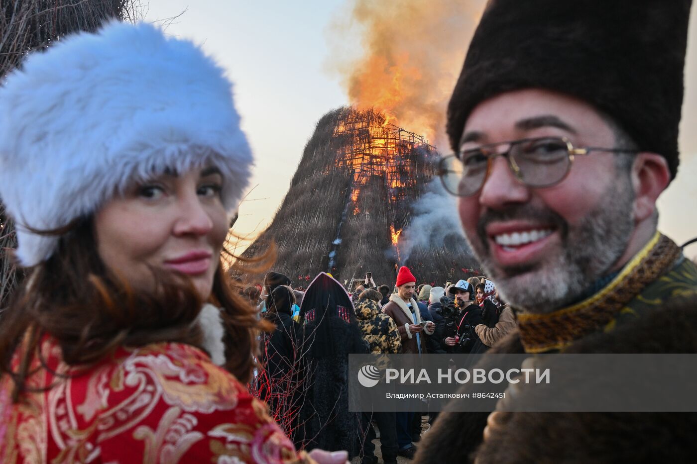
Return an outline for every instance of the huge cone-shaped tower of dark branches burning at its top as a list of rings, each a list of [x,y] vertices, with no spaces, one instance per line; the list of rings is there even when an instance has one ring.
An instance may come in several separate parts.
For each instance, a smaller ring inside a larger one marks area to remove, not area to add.
[[[369,271],[377,284],[390,283],[398,265],[410,266],[420,283],[461,276],[476,264],[455,233],[444,244],[414,249],[406,262],[399,256],[399,236],[436,173],[437,158],[423,137],[378,111],[330,111],[307,142],[273,222],[244,256],[258,256],[273,240],[273,269],[296,286],[321,271],[340,281]]]

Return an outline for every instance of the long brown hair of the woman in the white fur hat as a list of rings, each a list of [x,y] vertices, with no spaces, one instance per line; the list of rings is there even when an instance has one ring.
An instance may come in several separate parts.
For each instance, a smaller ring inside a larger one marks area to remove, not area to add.
[[[153,269],[156,288],[134,291],[102,262],[91,218],[45,233],[60,235],[56,252],[29,270],[0,324],[0,375],[14,379],[15,401],[26,389],[31,359],[45,334],[56,340],[70,365],[98,362],[118,346],[161,341],[201,346],[201,330],[194,321],[202,302],[190,279]],[[222,269],[221,262],[211,300],[222,308],[225,368],[247,382],[259,350],[256,336],[273,327],[259,320]],[[15,371],[13,354],[20,343],[26,349]]]

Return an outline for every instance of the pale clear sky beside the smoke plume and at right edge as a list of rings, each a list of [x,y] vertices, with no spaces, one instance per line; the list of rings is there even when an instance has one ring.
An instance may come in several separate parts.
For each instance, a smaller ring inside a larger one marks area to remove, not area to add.
[[[328,42],[337,40],[332,28],[351,0],[147,3],[149,22],[184,11],[167,26],[167,33],[202,45],[235,83],[237,109],[256,159],[252,187],[258,186],[240,206],[234,230],[259,233],[288,191],[316,122],[330,109],[348,104],[339,79],[328,71]],[[360,54],[358,37],[342,41],[342,53]],[[659,228],[679,244],[697,236],[697,8],[691,12],[687,54],[680,170],[659,199]],[[461,60],[457,72],[460,66]],[[697,245],[687,254],[696,256]]]

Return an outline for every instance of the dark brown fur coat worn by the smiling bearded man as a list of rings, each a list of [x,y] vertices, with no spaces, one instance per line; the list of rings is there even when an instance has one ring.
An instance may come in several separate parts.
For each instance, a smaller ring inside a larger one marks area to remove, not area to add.
[[[523,353],[518,332],[493,353]],[[697,297],[671,300],[566,353],[697,353]],[[697,413],[514,412],[482,444],[487,412],[446,412],[424,436],[415,463],[688,463],[697,456]]]

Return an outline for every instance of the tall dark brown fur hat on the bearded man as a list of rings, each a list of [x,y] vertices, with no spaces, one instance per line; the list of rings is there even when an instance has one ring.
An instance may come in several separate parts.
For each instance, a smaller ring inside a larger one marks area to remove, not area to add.
[[[677,173],[691,0],[491,0],[447,111],[457,152],[470,112],[499,93],[546,88],[608,114]]]

